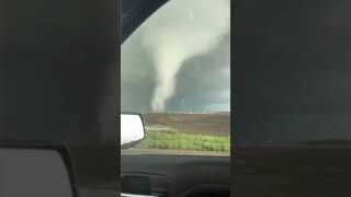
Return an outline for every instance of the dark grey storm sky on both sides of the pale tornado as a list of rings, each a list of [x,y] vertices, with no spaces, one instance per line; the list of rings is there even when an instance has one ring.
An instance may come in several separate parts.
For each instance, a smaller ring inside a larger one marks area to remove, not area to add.
[[[171,24],[172,18],[177,15],[168,16],[165,23]],[[186,59],[176,74],[173,95],[165,102],[166,111],[229,111],[229,28],[219,34],[216,44],[207,51],[185,56]],[[159,72],[154,65],[155,57],[150,56],[150,51],[143,46],[145,42],[143,39],[145,39],[145,31],[137,31],[122,46],[122,109],[124,112],[152,111],[152,95]]]

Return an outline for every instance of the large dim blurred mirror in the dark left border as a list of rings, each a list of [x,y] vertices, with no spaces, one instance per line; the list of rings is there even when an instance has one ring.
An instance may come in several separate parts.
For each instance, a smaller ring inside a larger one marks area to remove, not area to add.
[[[0,196],[77,197],[67,161],[56,149],[0,147]]]

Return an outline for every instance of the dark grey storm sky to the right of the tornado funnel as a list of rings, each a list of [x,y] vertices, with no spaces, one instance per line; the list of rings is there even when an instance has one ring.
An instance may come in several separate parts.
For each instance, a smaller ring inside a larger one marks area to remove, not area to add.
[[[189,59],[179,72],[172,111],[229,111],[230,36],[223,37],[211,53]],[[188,66],[189,65],[189,66]]]

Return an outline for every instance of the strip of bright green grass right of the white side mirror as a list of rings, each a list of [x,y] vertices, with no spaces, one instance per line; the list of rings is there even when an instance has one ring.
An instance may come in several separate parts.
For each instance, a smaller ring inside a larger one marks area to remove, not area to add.
[[[230,152],[229,136],[191,135],[177,130],[148,130],[146,136],[139,148]]]

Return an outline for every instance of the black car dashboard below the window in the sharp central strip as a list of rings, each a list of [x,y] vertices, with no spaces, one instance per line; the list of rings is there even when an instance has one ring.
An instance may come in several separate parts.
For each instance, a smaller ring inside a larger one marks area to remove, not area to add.
[[[121,171],[125,197],[230,196],[230,158],[122,154]]]

